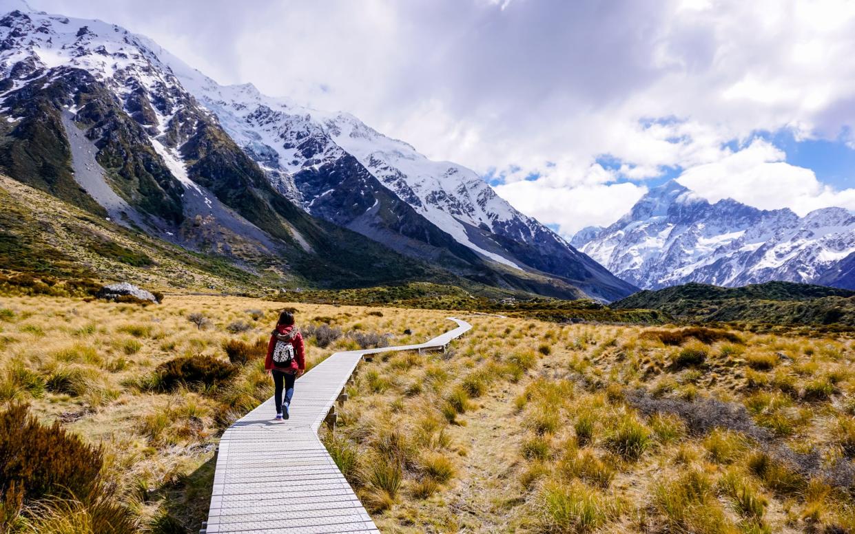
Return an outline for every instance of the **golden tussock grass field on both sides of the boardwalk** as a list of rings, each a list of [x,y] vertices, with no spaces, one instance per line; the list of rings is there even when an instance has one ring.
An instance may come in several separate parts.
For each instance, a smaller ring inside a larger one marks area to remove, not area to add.
[[[424,309],[6,297],[0,400],[100,445],[98,487],[134,528],[195,531],[218,433],[272,392],[256,342],[283,307],[310,334],[310,363],[453,326]],[[468,320],[447,354],[361,364],[322,436],[380,530],[855,529],[845,334]],[[34,502],[12,531],[97,531],[91,499]]]

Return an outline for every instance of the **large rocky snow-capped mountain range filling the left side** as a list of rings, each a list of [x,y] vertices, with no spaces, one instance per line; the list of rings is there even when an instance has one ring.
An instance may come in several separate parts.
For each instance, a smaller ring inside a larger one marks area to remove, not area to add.
[[[350,114],[219,85],[120,26],[8,0],[5,11],[0,167],[13,178],[219,254],[320,255],[347,239],[329,239],[333,223],[489,285],[603,300],[634,290],[469,169]]]

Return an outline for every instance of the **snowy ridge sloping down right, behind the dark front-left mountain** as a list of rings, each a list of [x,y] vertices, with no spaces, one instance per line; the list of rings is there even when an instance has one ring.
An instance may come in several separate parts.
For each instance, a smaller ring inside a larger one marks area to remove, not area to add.
[[[266,97],[251,84],[219,85],[176,58],[170,65],[271,183],[311,214],[407,254],[435,257],[451,250],[455,261],[468,262],[475,252],[512,269],[566,279],[607,300],[633,290],[616,283],[555,232],[516,211],[468,168],[430,161],[410,144],[387,138],[351,114]],[[399,202],[412,209],[403,226],[395,224],[401,214],[389,216],[400,211]],[[431,228],[416,222],[421,219]]]

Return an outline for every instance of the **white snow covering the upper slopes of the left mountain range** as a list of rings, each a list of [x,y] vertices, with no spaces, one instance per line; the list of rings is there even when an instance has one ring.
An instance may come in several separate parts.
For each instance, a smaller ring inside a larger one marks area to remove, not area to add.
[[[0,6],[9,1],[0,1]],[[324,112],[286,98],[268,97],[251,84],[220,85],[150,38],[103,21],[48,15],[32,9],[16,19],[13,26],[27,26],[27,41],[21,40],[20,46],[0,53],[0,65],[6,74],[15,63],[32,57],[49,71],[56,67],[83,68],[122,99],[130,97],[138,83],[150,94],[168,98],[173,105],[178,104],[174,93],[189,93],[241,148],[256,152],[250,155],[274,185],[286,187],[291,174],[304,165],[316,166],[318,161],[347,152],[434,225],[494,261],[522,268],[504,255],[473,243],[467,225],[486,226],[491,232],[512,232],[510,237],[534,246],[544,236],[563,243],[557,234],[498,197],[475,172],[447,161],[428,160],[410,144],[376,132],[352,114]],[[11,31],[12,28],[0,28],[0,37]],[[150,140],[155,150],[186,189],[201,192],[188,178],[178,153],[158,139],[174,114],[164,115],[156,106],[152,108],[157,133]],[[285,138],[295,129],[329,141],[315,161],[306,161],[295,149],[285,148]],[[299,197],[298,192],[294,197]],[[569,245],[564,246],[572,251]]]

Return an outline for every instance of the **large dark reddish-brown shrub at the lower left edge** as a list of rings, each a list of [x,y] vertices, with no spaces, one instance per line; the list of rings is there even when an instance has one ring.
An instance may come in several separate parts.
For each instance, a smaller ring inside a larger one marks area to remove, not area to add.
[[[47,496],[88,498],[102,464],[101,449],[83,443],[58,421],[41,425],[27,405],[0,413],[0,495],[7,505],[10,496],[25,504]]]

